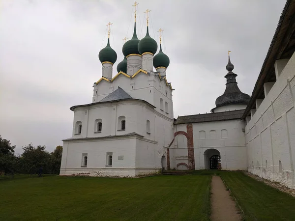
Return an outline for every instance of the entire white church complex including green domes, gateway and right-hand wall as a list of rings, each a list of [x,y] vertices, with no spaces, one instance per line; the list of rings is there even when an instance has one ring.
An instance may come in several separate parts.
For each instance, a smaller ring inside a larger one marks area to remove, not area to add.
[[[239,90],[229,57],[225,91],[216,107],[177,119],[161,36],[158,47],[147,26],[139,40],[135,15],[133,37],[123,45],[116,75],[117,54],[108,39],[98,55],[102,76],[93,85],[92,103],[70,108],[73,134],[63,140],[60,175],[248,170],[295,188],[294,15],[295,1],[287,0],[251,97]]]

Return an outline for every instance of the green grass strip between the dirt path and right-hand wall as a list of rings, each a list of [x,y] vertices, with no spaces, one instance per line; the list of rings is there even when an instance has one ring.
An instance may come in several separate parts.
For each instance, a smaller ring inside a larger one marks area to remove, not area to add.
[[[295,221],[295,198],[242,172],[220,172],[246,221]]]

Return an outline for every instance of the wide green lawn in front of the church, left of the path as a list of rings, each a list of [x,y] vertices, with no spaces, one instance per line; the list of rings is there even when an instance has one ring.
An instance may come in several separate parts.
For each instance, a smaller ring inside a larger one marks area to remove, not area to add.
[[[210,175],[0,179],[0,220],[209,220]]]

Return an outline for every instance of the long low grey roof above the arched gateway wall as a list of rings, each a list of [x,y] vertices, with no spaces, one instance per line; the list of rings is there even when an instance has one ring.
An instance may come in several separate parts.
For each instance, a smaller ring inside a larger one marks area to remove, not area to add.
[[[220,121],[220,120],[234,120],[240,119],[245,110],[237,111],[224,111],[217,113],[203,113],[187,116],[178,116],[174,124],[186,124],[186,123],[202,123],[210,121]]]

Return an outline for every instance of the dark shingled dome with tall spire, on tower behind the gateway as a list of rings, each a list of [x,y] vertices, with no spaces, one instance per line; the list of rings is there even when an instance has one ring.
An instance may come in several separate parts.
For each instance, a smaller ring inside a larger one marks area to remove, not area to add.
[[[234,65],[231,63],[231,59],[229,56],[229,62],[226,65],[226,69],[229,73],[224,76],[227,80],[226,88],[223,95],[219,96],[216,101],[216,107],[222,107],[226,105],[233,105],[233,104],[243,104],[247,105],[251,99],[248,94],[244,94],[240,91],[236,83],[236,74],[232,72],[234,70]]]

